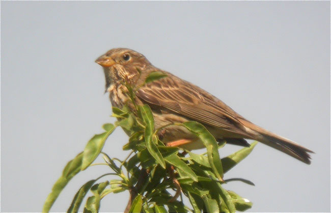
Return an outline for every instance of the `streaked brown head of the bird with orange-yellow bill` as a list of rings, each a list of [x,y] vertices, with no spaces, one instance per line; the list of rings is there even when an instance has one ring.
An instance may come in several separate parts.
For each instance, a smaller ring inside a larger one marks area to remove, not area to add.
[[[115,48],[100,56],[96,61],[103,67],[106,78],[106,90],[112,83],[127,80],[139,70],[152,66],[145,56],[132,49]]]

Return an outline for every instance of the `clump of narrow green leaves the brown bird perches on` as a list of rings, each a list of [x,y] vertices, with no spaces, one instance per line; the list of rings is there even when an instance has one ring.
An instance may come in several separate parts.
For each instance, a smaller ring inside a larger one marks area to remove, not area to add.
[[[166,76],[154,72],[147,77],[145,83],[162,77]],[[136,90],[130,85],[126,86],[133,101]],[[87,194],[91,196],[85,202],[84,212],[98,212],[103,197],[126,190],[131,195],[131,205],[127,207],[127,212],[235,212],[252,207],[252,202],[226,190],[224,184],[234,180],[253,185],[254,183],[243,178],[223,178],[226,172],[251,153],[257,142],[221,159],[218,149],[224,144],[217,144],[202,124],[185,122],[171,125],[184,126],[197,136],[206,146],[206,154],[167,147],[158,139],[158,132],[162,128],[154,128],[150,107],[133,105],[134,110],[129,110],[127,106],[123,109],[113,108],[113,117],[118,121],[115,125],[104,124],[104,132],[95,135],[87,143],[84,151],[66,165],[62,176],[46,198],[43,212],[50,210],[73,176],[94,165],[106,165],[112,172],[82,185],[74,196],[68,212],[77,212]],[[121,126],[129,135],[129,142],[123,149],[130,150],[130,153],[123,161],[102,152],[106,139],[117,126]],[[105,163],[93,165],[100,154]],[[106,175],[115,175],[119,179],[97,183]],[[173,191],[176,191],[175,195]],[[191,206],[183,203],[182,196],[189,199]]]

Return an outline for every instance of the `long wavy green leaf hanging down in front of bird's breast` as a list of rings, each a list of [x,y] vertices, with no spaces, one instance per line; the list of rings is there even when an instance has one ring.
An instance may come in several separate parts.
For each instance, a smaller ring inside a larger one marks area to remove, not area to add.
[[[146,123],[145,127],[145,141],[146,141],[146,147],[149,153],[155,158],[157,163],[159,163],[164,169],[166,169],[166,162],[164,162],[164,159],[160,153],[160,151],[157,149],[156,144],[152,140],[152,136],[154,133],[154,118],[152,111],[148,105],[139,106],[139,111],[141,113],[141,116]]]

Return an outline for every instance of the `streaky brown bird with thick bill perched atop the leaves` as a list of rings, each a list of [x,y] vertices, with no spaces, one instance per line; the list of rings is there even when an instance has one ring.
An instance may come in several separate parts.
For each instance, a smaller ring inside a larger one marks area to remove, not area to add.
[[[168,125],[159,135],[167,146],[187,150],[204,148],[203,142],[185,127],[169,125],[197,121],[208,129],[217,142],[225,140],[229,144],[249,147],[246,140],[256,140],[311,164],[309,153],[314,153],[312,150],[250,122],[200,87],[155,67],[139,52],[113,48],[95,62],[103,67],[105,92],[109,92],[112,106],[122,108],[129,102],[125,84],[136,88],[134,103],[149,105],[155,129]],[[149,74],[156,71],[166,77],[144,84]]]

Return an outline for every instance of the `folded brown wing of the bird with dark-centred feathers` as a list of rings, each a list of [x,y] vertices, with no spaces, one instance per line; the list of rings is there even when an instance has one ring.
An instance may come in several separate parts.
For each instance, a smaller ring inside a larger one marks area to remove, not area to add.
[[[151,82],[137,91],[144,101],[159,105],[198,122],[251,138],[238,115],[224,102],[203,89],[166,72],[168,77]],[[241,118],[241,117],[240,117]]]

